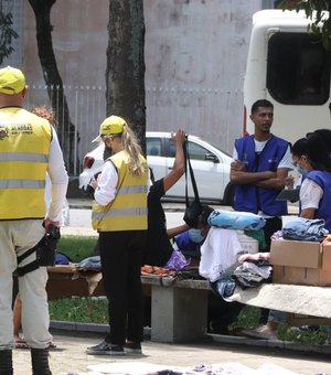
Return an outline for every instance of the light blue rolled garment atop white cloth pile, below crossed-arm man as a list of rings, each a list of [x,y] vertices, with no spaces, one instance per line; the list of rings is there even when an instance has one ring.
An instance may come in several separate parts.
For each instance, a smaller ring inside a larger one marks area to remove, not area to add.
[[[266,219],[249,212],[213,211],[209,224],[224,229],[258,231],[266,225]]]

